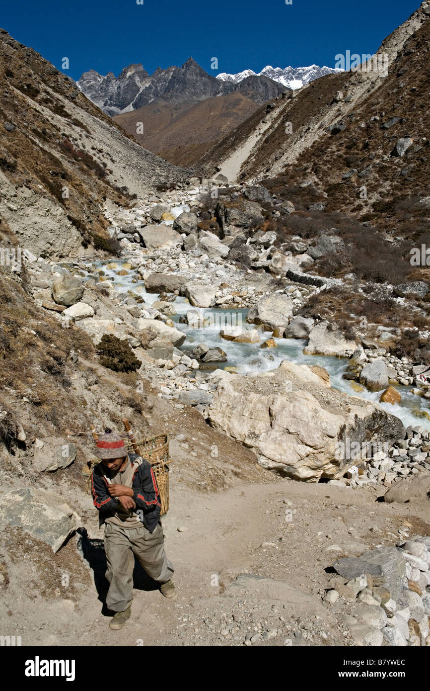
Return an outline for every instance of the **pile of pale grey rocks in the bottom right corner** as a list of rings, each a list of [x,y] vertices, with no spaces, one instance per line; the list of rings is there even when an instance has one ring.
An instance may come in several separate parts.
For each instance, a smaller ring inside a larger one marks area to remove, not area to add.
[[[355,645],[430,646],[430,537],[342,558],[334,569],[324,601],[351,603],[340,621]]]

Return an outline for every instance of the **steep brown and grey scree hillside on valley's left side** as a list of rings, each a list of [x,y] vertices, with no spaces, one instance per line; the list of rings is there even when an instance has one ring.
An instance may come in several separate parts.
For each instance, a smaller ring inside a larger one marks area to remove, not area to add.
[[[109,236],[121,204],[182,169],[143,149],[35,50],[0,32],[0,231],[3,245],[68,256]],[[29,213],[31,209],[31,213]]]

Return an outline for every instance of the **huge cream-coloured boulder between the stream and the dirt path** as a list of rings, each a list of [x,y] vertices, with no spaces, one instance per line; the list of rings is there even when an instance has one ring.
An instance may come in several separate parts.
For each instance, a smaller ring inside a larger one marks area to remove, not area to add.
[[[405,433],[378,404],[331,389],[311,368],[289,361],[259,375],[224,377],[209,418],[252,448],[263,466],[308,482],[342,477],[351,463],[338,453],[346,439],[391,442]]]

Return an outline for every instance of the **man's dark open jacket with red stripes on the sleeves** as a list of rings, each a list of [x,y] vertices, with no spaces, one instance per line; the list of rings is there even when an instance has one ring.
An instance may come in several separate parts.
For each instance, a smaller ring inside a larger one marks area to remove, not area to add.
[[[148,461],[143,460],[140,465],[136,464],[136,460],[140,456],[134,453],[129,453],[128,458],[132,466],[136,466],[133,475],[133,500],[136,504],[135,511],[138,512],[141,522],[146,529],[152,533],[159,522],[159,513],[162,505],[160,504],[159,491],[157,482]],[[94,505],[99,510],[100,525],[103,524],[106,518],[115,515],[119,507],[119,500],[113,499],[108,491],[108,481],[101,472],[101,463],[95,466],[91,475],[91,489]]]

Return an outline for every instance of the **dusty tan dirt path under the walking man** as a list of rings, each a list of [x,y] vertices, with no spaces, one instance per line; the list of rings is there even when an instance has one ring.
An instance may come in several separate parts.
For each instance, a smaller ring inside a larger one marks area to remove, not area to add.
[[[240,482],[208,495],[173,482],[163,527],[177,599],[135,588],[132,617],[120,633],[108,628],[97,598],[103,531],[90,514],[91,568],[72,538],[56,559],[81,565],[70,584],[73,594],[48,605],[38,599],[25,607],[16,603],[17,630],[25,630],[34,645],[244,645],[251,635],[260,636],[253,645],[351,644],[341,622],[355,605],[342,598],[335,605],[322,601],[331,578],[324,569],[338,556],[395,544],[399,527],[409,527],[411,536],[428,534],[426,508],[377,502],[375,489],[273,477],[271,483]]]

